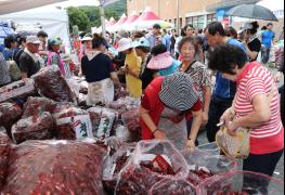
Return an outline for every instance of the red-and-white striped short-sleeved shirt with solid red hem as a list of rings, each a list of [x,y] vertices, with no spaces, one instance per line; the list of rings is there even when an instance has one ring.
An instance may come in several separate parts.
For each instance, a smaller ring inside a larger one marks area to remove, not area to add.
[[[280,98],[271,73],[256,62],[247,64],[237,78],[236,101],[234,105],[237,118],[250,114],[254,110],[254,105],[251,104],[254,96],[258,94],[265,94],[268,96],[271,93],[272,87],[274,88],[274,93],[270,103],[271,119],[251,129],[251,153],[271,153],[283,148],[283,140],[280,140],[283,138],[281,138],[281,134],[284,131],[280,114]],[[273,139],[273,141],[267,143],[269,139]]]

